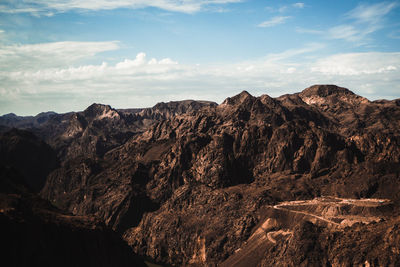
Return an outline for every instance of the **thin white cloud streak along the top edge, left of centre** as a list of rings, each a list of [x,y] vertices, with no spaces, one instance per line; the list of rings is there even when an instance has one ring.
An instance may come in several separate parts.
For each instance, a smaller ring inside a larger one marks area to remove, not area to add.
[[[70,10],[111,10],[117,8],[139,9],[155,7],[167,11],[195,13],[206,7],[237,3],[241,0],[11,0],[0,5],[0,13],[31,13],[52,15]]]

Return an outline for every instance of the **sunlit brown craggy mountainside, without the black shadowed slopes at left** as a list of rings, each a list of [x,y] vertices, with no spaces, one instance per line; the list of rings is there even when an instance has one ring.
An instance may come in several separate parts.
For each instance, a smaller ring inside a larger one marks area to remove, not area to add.
[[[61,161],[41,196],[104,221],[140,255],[176,266],[229,266],[248,255],[262,266],[399,262],[398,100],[371,102],[345,88],[315,85],[278,98],[244,91],[220,105],[182,101],[114,110],[95,104],[66,116],[53,134],[51,120],[34,129]],[[321,196],[391,204],[389,213],[377,212],[379,220],[347,227],[315,221],[326,215],[318,209],[307,211],[311,216],[274,208]],[[266,221],[273,233],[262,239],[264,250],[253,251],[254,233]],[[357,249],[379,234],[387,241]],[[243,255],[235,253],[240,250]]]

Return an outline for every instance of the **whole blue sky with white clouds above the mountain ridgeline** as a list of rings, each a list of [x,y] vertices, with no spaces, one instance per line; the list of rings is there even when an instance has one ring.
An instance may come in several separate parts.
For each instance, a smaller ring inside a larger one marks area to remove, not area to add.
[[[320,83],[400,97],[399,1],[0,1],[0,114]]]

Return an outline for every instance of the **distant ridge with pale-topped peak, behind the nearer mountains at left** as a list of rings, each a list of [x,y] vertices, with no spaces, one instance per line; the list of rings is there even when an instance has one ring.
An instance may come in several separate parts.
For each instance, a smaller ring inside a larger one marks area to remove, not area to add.
[[[196,111],[203,106],[216,106],[216,103],[185,100],[159,103],[152,108],[125,110],[92,104],[82,112],[48,112],[34,117],[7,114],[0,117],[0,125],[4,127],[3,132],[12,127],[34,132],[58,152],[63,162],[78,155],[102,157],[156,122]]]

